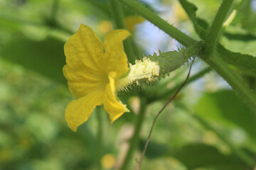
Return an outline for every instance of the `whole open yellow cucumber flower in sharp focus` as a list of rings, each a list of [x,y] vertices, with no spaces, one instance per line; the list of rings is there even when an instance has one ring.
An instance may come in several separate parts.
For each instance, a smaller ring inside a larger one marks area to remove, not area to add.
[[[63,73],[77,98],[65,109],[65,120],[71,130],[76,131],[87,121],[96,106],[104,106],[111,123],[128,111],[116,96],[119,78],[128,71],[122,45],[127,36],[127,30],[112,30],[106,34],[103,45],[91,28],[81,25],[65,43],[67,64]]]

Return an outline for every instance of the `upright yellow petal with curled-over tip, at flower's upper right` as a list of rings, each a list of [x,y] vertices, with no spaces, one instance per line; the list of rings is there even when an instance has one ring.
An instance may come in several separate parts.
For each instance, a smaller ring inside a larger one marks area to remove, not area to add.
[[[117,72],[117,77],[127,72],[127,55],[124,52],[122,41],[129,36],[127,30],[112,30],[105,36],[104,63],[107,65],[107,73]]]

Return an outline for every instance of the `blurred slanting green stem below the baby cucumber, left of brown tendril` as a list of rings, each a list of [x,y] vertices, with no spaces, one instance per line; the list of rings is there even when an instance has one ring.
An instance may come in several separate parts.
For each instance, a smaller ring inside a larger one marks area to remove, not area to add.
[[[132,156],[134,154],[134,150],[137,148],[137,144],[139,142],[139,132],[142,129],[142,123],[145,118],[145,113],[146,113],[146,99],[141,98],[141,105],[140,105],[140,110],[139,110],[139,115],[137,118],[137,122],[135,124],[135,130],[134,134],[132,136],[132,140],[129,145],[128,152],[124,158],[124,163],[122,164],[120,170],[126,170],[129,167],[129,164],[132,160]]]

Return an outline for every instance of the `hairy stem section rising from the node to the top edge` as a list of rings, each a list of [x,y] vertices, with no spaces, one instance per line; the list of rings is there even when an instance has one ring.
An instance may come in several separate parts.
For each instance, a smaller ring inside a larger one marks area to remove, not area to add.
[[[234,0],[223,0],[218,12],[213,20],[213,24],[210,27],[208,37],[206,38],[206,55],[205,57],[210,57],[210,54],[213,53],[215,48],[216,40],[218,38],[218,33],[220,28],[222,28],[225,18],[228,14],[228,11]]]

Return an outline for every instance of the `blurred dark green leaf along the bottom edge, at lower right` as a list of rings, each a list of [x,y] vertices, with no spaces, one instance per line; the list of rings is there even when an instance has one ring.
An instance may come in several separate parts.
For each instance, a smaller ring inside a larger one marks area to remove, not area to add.
[[[174,157],[185,164],[188,169],[242,170],[246,168],[239,159],[221,154],[217,148],[200,143],[186,145],[178,149]]]

